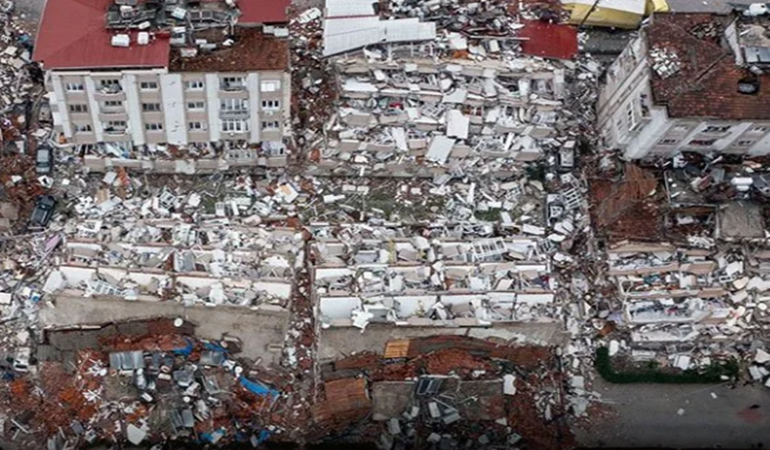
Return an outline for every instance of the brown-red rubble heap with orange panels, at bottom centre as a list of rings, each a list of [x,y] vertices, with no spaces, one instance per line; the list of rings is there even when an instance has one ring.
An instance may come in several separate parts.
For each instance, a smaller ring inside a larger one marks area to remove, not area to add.
[[[345,430],[382,448],[571,445],[560,375],[544,347],[449,336],[390,341],[384,358],[351,356],[324,366],[322,376],[318,435]],[[348,417],[331,420],[329,411]],[[362,422],[367,415],[379,426]]]

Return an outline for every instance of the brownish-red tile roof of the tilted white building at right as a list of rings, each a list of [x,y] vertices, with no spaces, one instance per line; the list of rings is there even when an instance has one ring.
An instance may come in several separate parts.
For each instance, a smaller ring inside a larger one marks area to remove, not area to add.
[[[646,30],[650,49],[674,51],[679,71],[663,79],[652,73],[656,104],[665,105],[670,117],[709,117],[724,120],[770,119],[770,76],[760,76],[759,93],[738,93],[738,82],[747,72],[735,65],[729,48],[717,38],[698,37],[693,30],[708,24],[726,26],[726,18],[712,14],[660,14]]]

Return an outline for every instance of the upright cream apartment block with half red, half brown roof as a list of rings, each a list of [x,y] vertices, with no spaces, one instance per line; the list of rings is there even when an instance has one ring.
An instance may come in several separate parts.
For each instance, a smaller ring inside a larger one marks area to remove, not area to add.
[[[291,91],[287,6],[49,0],[34,59],[56,131],[112,158],[242,149],[280,157]]]

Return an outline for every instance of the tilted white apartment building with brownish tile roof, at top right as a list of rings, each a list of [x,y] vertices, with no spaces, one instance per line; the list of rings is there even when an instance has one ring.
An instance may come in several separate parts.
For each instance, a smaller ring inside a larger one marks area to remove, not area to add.
[[[770,153],[768,18],[655,14],[607,69],[604,145],[629,159]]]

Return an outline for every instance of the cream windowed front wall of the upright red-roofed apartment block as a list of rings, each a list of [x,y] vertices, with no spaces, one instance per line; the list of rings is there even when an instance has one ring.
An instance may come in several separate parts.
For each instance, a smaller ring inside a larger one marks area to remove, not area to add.
[[[225,87],[233,79],[242,85]],[[256,144],[287,134],[290,79],[281,71],[49,71],[46,85],[56,129],[77,144]]]

